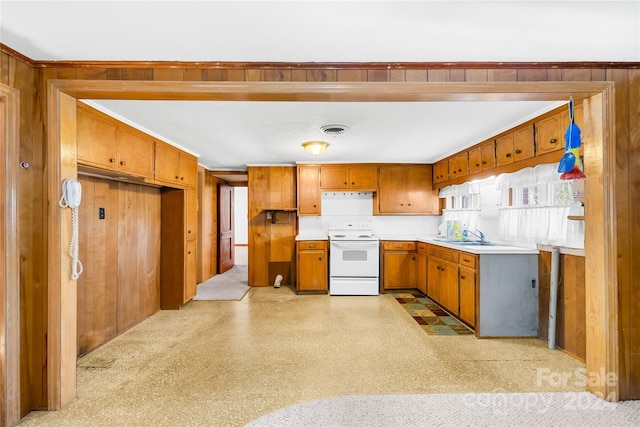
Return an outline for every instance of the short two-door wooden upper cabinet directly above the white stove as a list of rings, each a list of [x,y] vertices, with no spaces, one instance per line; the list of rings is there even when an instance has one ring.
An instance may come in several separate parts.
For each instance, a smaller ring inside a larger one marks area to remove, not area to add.
[[[378,167],[374,165],[321,166],[320,188],[337,191],[375,191],[378,189]]]

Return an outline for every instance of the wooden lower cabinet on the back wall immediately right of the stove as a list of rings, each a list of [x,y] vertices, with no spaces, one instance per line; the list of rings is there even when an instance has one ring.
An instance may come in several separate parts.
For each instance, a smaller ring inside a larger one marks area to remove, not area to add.
[[[382,248],[382,289],[418,287],[416,242],[385,241]]]

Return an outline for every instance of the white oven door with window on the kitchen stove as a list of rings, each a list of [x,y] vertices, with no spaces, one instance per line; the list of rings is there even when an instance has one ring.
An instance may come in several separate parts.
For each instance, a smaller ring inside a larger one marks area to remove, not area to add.
[[[331,241],[329,276],[378,277],[379,242]]]

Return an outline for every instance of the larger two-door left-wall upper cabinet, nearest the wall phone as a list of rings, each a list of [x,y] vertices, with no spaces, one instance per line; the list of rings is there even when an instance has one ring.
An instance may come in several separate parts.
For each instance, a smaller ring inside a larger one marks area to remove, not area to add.
[[[78,104],[78,163],[153,178],[153,139],[115,119]]]

